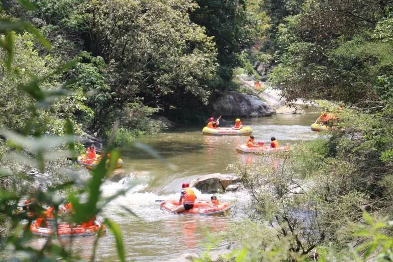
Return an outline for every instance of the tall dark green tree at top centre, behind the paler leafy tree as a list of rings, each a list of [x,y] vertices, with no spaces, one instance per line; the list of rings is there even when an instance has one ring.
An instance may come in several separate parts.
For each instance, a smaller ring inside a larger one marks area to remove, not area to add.
[[[268,18],[259,12],[259,0],[197,0],[199,8],[191,20],[214,36],[217,47],[218,79],[213,85],[225,89],[232,80],[233,69],[241,65],[239,55],[252,46],[266,27]]]

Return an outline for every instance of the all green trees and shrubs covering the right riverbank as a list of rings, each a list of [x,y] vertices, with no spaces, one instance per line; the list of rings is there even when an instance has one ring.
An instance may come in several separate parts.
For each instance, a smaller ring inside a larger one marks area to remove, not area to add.
[[[264,1],[270,27],[254,48],[275,65],[269,83],[288,103],[336,102],[321,104],[338,124],[328,138],[290,154],[230,166],[253,201],[250,220],[229,234],[234,243],[242,239],[241,256],[392,259],[392,7],[384,0]]]

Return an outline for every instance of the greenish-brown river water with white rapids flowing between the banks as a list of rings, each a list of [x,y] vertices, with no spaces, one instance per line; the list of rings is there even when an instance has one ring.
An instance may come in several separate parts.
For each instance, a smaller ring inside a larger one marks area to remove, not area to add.
[[[242,119],[242,122],[253,128],[255,141],[266,144],[275,136],[280,145],[293,145],[316,138],[317,134],[310,131],[310,125],[317,117],[317,111],[309,109],[306,115],[275,115]],[[221,126],[225,126],[225,123],[221,123]],[[139,139],[140,143],[158,152],[167,163],[139,148],[123,148],[124,168],[130,172],[142,171],[141,178],[146,179],[146,182],[141,182],[125,196],[113,201],[101,215],[119,224],[128,261],[167,261],[184,253],[203,252],[206,250],[203,243],[207,242],[208,233],[225,231],[231,221],[239,219],[237,212],[212,217],[173,215],[161,211],[155,202],[178,199],[182,182],[191,182],[205,174],[230,173],[230,170],[226,170],[228,164],[247,161],[248,155],[235,151],[235,146],[245,143],[247,137],[203,136],[201,129],[201,126],[178,128]],[[111,196],[124,187],[121,182],[108,181],[103,194]],[[196,193],[200,199],[210,198],[210,195]],[[221,201],[234,201],[243,197],[228,193],[221,196]],[[119,205],[133,210],[138,218]],[[91,256],[89,247],[94,240],[95,237],[75,238],[74,252],[88,259]],[[37,240],[37,244],[43,241]],[[217,249],[225,250],[225,242],[220,243]],[[115,240],[111,233],[100,239],[97,258],[101,261],[117,260]]]

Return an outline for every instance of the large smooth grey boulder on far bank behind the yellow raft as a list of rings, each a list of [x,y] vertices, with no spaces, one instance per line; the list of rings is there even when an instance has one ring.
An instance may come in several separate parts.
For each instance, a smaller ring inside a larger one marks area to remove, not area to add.
[[[224,92],[214,103],[215,115],[223,116],[271,116],[275,114],[273,108],[255,95],[236,91]]]

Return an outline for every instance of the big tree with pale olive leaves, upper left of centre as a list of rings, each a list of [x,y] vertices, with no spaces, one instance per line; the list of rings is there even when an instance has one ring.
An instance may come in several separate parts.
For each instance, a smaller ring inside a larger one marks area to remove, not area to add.
[[[95,53],[108,63],[110,85],[122,108],[138,96],[169,110],[188,98],[207,103],[215,76],[216,48],[204,29],[191,23],[190,1],[93,1],[84,12]],[[157,23],[159,21],[159,23]],[[133,44],[130,44],[133,43]]]

